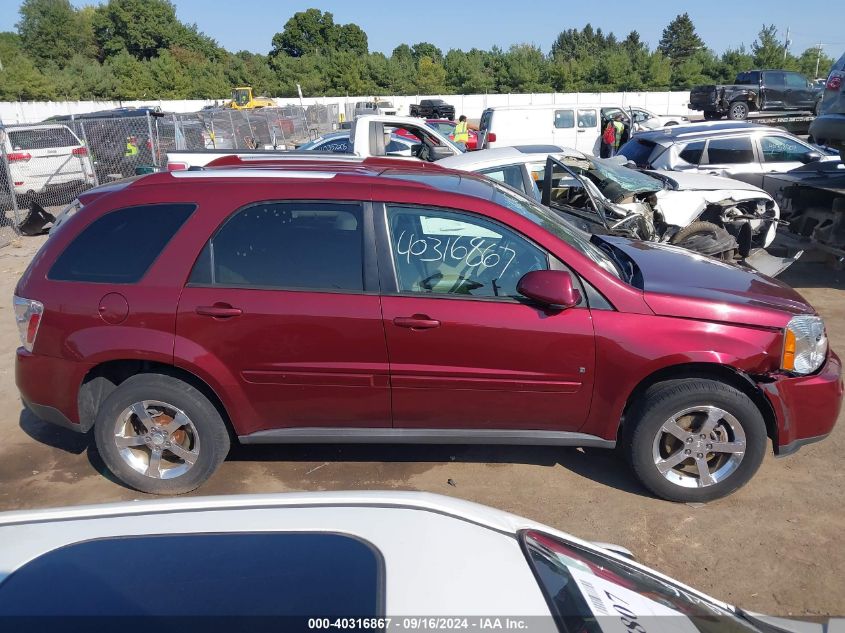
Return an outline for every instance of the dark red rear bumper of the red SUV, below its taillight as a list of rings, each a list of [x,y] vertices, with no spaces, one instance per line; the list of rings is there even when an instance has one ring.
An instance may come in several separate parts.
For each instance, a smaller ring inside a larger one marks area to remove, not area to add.
[[[45,422],[85,433],[94,421],[79,420],[79,386],[88,365],[27,352],[15,357],[15,383],[26,407]]]

